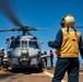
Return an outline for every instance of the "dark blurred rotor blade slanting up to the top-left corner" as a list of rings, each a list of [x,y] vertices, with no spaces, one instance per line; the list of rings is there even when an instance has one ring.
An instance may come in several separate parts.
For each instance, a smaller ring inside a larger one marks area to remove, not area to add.
[[[15,26],[23,26],[13,12],[11,0],[0,0],[0,10]]]

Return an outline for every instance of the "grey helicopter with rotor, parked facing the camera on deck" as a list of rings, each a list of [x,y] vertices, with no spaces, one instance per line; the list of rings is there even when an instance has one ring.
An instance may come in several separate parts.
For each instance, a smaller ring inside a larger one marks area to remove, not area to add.
[[[39,69],[44,67],[40,43],[37,37],[32,35],[29,31],[38,31],[38,28],[24,26],[20,23],[15,14],[13,14],[10,0],[0,0],[0,11],[16,26],[14,28],[4,28],[0,32],[22,32],[22,35],[7,37],[7,56],[11,68],[27,68],[37,66]],[[4,59],[5,60],[5,59]],[[8,68],[7,67],[7,68]]]

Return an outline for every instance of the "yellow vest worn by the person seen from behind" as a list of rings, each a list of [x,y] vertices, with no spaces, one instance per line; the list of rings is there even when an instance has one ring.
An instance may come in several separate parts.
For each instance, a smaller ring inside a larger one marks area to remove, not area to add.
[[[79,32],[67,32],[66,28],[62,31],[62,45],[60,48],[56,49],[56,54],[59,58],[78,58],[79,57],[79,42],[80,33]]]

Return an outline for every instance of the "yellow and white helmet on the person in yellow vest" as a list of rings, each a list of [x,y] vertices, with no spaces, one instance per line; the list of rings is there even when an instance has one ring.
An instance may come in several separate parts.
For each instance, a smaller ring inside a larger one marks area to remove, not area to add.
[[[62,27],[74,27],[74,17],[72,15],[63,15],[61,19]]]

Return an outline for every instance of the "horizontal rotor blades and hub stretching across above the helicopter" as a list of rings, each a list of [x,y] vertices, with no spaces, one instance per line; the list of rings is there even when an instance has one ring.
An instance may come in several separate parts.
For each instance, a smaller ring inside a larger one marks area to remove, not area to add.
[[[59,30],[61,27],[31,27],[31,26],[19,26],[19,27],[14,27],[14,28],[4,28],[4,30],[0,30],[0,32],[29,32],[29,31],[48,31],[48,30]],[[75,28],[83,28],[83,26],[75,26]]]

